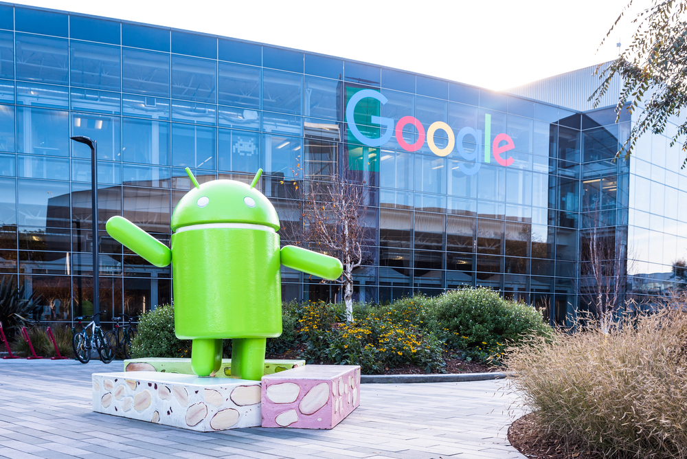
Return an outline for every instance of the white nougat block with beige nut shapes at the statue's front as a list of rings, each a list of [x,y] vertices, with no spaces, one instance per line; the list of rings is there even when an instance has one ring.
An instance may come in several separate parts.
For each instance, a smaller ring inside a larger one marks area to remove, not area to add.
[[[262,424],[260,381],[154,371],[94,373],[93,411],[199,432]]]

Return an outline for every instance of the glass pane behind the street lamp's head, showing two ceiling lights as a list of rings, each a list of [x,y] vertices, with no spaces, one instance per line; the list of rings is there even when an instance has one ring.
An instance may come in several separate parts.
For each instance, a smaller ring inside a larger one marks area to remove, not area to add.
[[[85,135],[95,140],[98,143],[98,159],[122,161],[120,117],[72,113],[72,119],[72,135]],[[90,158],[91,148],[73,142],[71,155],[77,158]]]

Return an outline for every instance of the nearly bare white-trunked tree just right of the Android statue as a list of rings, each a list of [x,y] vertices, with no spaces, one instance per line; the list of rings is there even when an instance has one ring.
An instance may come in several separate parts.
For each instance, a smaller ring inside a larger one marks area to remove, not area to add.
[[[291,222],[282,234],[294,245],[311,248],[341,260],[346,320],[353,320],[353,272],[369,254],[365,250],[368,230],[365,186],[335,174],[330,180],[309,182],[302,192],[301,221]],[[323,280],[322,282],[327,282]]]

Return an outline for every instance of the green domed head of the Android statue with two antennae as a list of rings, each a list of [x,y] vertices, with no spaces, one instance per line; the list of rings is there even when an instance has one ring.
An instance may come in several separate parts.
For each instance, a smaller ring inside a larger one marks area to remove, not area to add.
[[[251,185],[235,180],[213,180],[199,185],[191,171],[186,173],[193,188],[181,198],[172,213],[172,231],[192,225],[244,223],[279,229],[277,211],[269,199],[256,190],[262,169]]]

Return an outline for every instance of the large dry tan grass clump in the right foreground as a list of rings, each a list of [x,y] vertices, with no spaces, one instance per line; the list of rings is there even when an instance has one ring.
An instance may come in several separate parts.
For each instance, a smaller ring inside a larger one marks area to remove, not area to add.
[[[531,339],[505,362],[545,434],[609,458],[687,458],[686,312]]]

